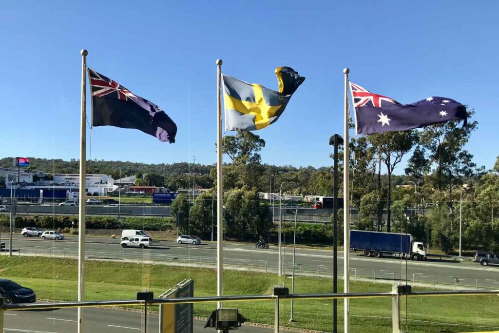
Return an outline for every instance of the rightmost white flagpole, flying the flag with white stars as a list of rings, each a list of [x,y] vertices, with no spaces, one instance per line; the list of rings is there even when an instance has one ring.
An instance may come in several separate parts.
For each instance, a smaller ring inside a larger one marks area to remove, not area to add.
[[[350,292],[350,266],[349,266],[349,257],[350,257],[350,223],[349,223],[349,208],[350,204],[348,201],[348,179],[349,179],[349,170],[348,170],[348,73],[350,69],[343,69],[343,73],[345,74],[345,100],[344,100],[344,111],[345,111],[345,123],[343,129],[343,293]],[[344,333],[350,332],[350,300],[345,299],[344,301],[344,322],[345,329]]]

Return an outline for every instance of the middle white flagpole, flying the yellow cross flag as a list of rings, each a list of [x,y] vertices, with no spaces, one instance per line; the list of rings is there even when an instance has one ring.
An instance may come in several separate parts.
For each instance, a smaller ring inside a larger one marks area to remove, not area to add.
[[[222,59],[217,59],[217,296],[224,292],[224,180],[222,169]],[[218,302],[222,308],[222,302]]]

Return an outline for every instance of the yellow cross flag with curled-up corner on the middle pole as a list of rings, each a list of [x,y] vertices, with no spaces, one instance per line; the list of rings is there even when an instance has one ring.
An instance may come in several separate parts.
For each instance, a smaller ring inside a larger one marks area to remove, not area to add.
[[[226,131],[257,130],[279,119],[293,92],[305,78],[291,67],[278,67],[275,75],[279,91],[223,75]]]

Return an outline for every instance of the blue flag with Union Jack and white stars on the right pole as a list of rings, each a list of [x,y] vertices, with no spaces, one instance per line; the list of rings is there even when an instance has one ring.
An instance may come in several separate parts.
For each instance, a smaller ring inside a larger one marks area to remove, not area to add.
[[[433,96],[404,105],[352,82],[350,90],[357,134],[405,131],[455,119],[467,123],[466,107],[451,98]]]

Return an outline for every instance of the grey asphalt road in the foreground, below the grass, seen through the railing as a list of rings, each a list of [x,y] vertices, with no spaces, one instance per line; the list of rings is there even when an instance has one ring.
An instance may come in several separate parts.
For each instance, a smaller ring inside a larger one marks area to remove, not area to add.
[[[216,306],[214,304],[214,306]],[[86,308],[84,310],[85,332],[144,332],[144,315],[139,312],[120,311],[102,308]],[[55,311],[7,311],[4,316],[4,333],[66,333],[77,331],[77,309],[60,309]],[[147,332],[159,330],[159,317],[148,315]],[[195,333],[214,333],[215,329],[204,329],[205,322],[194,321]],[[243,326],[238,332],[270,333],[273,330]]]

